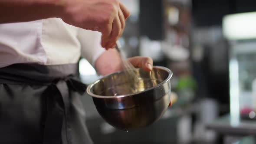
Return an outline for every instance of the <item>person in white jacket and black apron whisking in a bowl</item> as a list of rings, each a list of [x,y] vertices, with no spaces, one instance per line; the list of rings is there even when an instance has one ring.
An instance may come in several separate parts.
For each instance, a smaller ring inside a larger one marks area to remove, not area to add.
[[[109,48],[129,15],[118,0],[0,0],[0,143],[92,144],[77,62],[120,70]],[[129,61],[152,69],[149,57]]]

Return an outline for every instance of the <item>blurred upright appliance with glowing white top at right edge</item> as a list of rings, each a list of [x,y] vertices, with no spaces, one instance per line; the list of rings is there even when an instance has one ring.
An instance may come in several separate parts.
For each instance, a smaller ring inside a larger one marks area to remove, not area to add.
[[[256,12],[226,15],[223,35],[230,44],[230,114],[256,117]]]

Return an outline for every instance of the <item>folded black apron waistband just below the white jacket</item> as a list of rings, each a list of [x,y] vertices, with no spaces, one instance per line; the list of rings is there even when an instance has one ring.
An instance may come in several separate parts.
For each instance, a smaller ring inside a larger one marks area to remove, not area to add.
[[[77,75],[76,64],[39,65],[20,63],[0,68],[0,83],[49,85]]]

